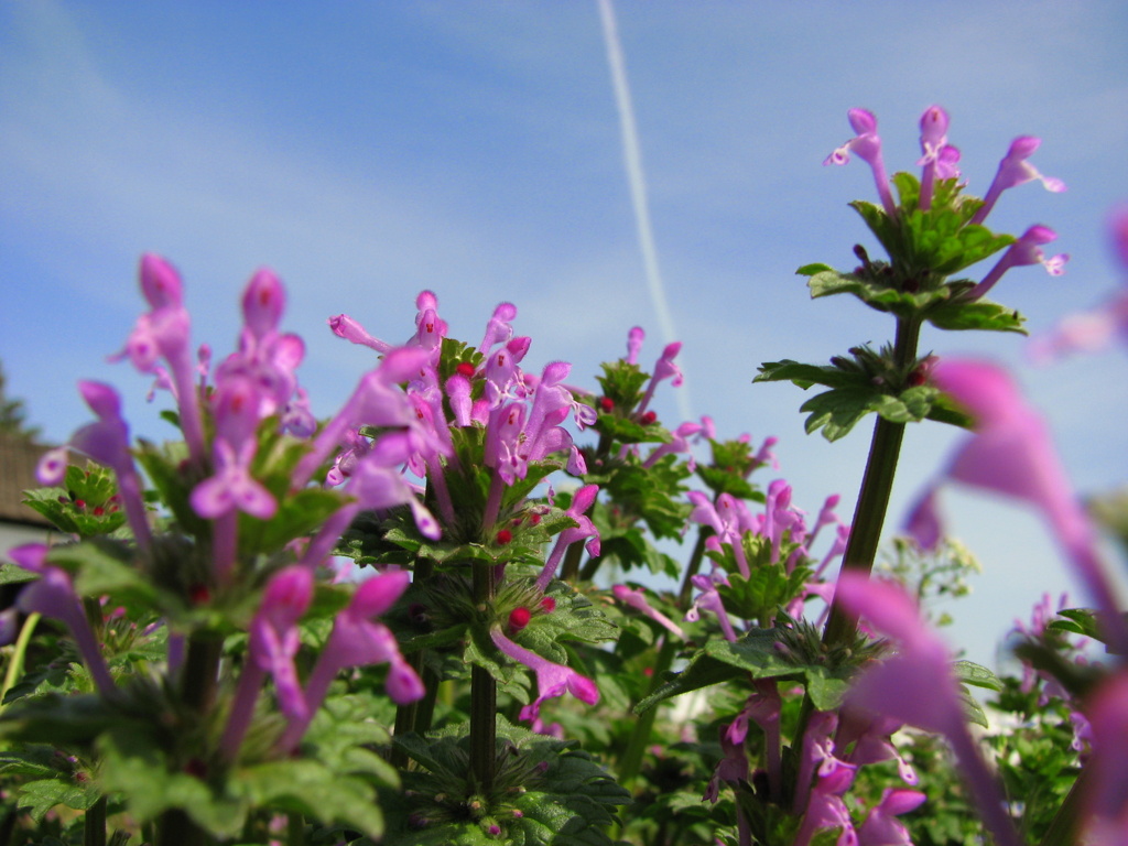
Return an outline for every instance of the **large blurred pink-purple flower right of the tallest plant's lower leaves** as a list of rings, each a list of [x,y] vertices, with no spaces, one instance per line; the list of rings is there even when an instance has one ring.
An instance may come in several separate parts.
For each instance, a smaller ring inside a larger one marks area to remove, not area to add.
[[[1095,531],[1078,502],[1040,415],[1002,368],[981,361],[941,361],[934,384],[976,421],[976,434],[957,450],[945,476],[1023,500],[1037,508],[1073,563],[1101,613],[1110,641],[1128,652],[1128,628],[1096,554]],[[937,483],[938,484],[938,483]],[[940,536],[935,487],[922,497],[910,525],[926,548]]]

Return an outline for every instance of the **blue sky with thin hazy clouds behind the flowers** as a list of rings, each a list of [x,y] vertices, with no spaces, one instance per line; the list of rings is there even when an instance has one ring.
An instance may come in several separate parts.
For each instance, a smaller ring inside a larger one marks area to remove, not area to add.
[[[862,162],[823,168],[879,117],[890,169],[911,168],[917,121],[952,117],[970,190],[1011,139],[1065,194],[1026,185],[992,222],[1054,227],[1067,275],[1012,272],[995,290],[1032,331],[1123,281],[1108,211],[1128,201],[1128,10],[1076,2],[626,2],[615,7],[650,213],[686,400],[723,437],[781,438],[781,473],[809,510],[856,493],[869,429],[826,444],[802,432],[804,396],[752,386],[761,361],[822,362],[889,326],[849,301],[811,302],[795,267],[843,266],[866,239],[846,206],[872,199]],[[590,382],[644,326],[647,296],[619,122],[594,0],[555,2],[0,3],[0,359],[52,439],[87,418],[79,378],[113,381],[135,430],[168,430],[146,380],[104,356],[140,310],[142,252],[182,271],[197,341],[228,351],[254,270],[290,292],[302,378],[328,414],[367,351],[331,336],[347,311],[403,340],[434,290],[452,333],[476,342],[493,306],[518,306],[532,367]],[[982,268],[986,272],[986,268]],[[926,333],[937,352],[1012,364],[1082,490],[1123,478],[1122,351],[1034,369],[1014,336]],[[669,393],[659,406],[675,422]],[[919,426],[895,492],[896,526],[955,433]],[[1020,508],[952,492],[955,534],[982,559],[957,618],[973,655],[1043,587],[1070,587],[1050,538]]]

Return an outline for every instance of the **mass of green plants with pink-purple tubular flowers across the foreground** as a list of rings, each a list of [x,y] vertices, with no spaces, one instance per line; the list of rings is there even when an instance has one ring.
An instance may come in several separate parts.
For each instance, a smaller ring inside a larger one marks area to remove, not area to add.
[[[1126,841],[1128,627],[1094,522],[1006,372],[918,352],[926,325],[1023,331],[986,294],[1066,256],[1045,257],[1045,226],[984,221],[1007,188],[1064,186],[1020,138],[984,197],[964,193],[935,106],[920,176],[890,178],[874,116],[849,122],[827,164],[871,166],[880,202],[852,205],[887,257],[799,273],[888,314],[892,341],[756,376],[819,385],[802,411],[829,440],[876,414],[849,522],[838,495],[809,512],[765,478],[775,439],[663,424],[680,345],[646,370],[641,328],[596,388],[563,361],[527,372],[510,303],[476,345],[430,291],[402,344],[338,315],[368,369],[318,420],[273,273],[214,363],[177,272],[142,258],[149,310],[118,358],[173,397],[179,438],[132,441],[117,393],[80,382],[96,421],[27,494],[59,535],[2,571],[23,585],[3,626],[6,841]],[[882,562],[902,434],[926,418],[971,433]],[[1047,601],[1021,627],[1021,678],[955,660],[929,622],[975,566],[944,537],[949,481],[1039,509],[1089,593],[1092,610]],[[1016,728],[977,737],[988,714]]]

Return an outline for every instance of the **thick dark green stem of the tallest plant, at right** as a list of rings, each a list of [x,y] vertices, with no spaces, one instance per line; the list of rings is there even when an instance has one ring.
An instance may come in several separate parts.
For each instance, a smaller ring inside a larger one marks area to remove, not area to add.
[[[893,359],[902,373],[907,373],[916,360],[919,336],[918,318],[897,319]],[[846,552],[843,554],[841,572],[869,574],[873,570],[904,437],[904,423],[891,423],[884,417],[878,417],[873,428],[873,440],[870,442],[865,474],[862,476],[862,488],[857,495],[857,508],[854,510],[849,540],[846,541]],[[822,642],[827,645],[844,643],[853,635],[856,625],[856,619],[843,611],[838,605],[834,605],[830,608],[830,618],[827,620]]]

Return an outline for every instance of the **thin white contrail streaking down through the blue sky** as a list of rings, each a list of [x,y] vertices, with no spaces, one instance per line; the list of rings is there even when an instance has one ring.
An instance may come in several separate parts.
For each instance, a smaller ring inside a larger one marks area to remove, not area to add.
[[[663,343],[677,340],[673,328],[673,316],[666,301],[666,288],[662,274],[658,268],[658,250],[654,248],[654,232],[650,226],[650,206],[646,201],[646,178],[642,171],[642,153],[638,150],[638,131],[634,122],[634,108],[631,105],[631,89],[627,86],[627,69],[623,61],[623,45],[619,43],[618,27],[615,24],[615,10],[611,0],[598,0],[599,18],[603,25],[603,41],[607,44],[607,62],[611,69],[611,86],[615,89],[615,104],[619,112],[619,129],[623,132],[623,159],[627,168],[627,182],[631,185],[631,203],[634,206],[635,226],[638,230],[638,249],[642,252],[643,267],[646,274],[646,288],[650,290],[651,305],[658,316],[662,331]],[[682,365],[685,370],[685,365]],[[686,384],[677,391],[678,413],[682,420],[693,420],[689,402],[688,376]]]

